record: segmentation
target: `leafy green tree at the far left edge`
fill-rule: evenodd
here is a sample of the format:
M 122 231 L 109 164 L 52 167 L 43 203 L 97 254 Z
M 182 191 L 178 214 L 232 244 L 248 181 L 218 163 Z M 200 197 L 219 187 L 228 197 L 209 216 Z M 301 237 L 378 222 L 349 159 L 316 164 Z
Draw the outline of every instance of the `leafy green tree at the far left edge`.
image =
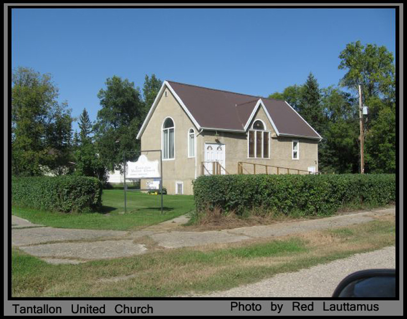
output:
M 50 74 L 26 67 L 12 71 L 12 174 L 41 175 L 44 166 L 57 169 L 69 162 L 72 117 Z

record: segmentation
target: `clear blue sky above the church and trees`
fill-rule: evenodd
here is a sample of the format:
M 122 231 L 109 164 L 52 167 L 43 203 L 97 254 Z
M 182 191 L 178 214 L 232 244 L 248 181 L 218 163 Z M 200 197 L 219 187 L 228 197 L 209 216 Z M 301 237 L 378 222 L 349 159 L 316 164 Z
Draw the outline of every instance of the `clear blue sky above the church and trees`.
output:
M 268 96 L 310 71 L 337 85 L 339 53 L 357 40 L 394 53 L 395 9 L 12 10 L 12 68 L 51 73 L 60 101 L 92 121 L 113 75 Z

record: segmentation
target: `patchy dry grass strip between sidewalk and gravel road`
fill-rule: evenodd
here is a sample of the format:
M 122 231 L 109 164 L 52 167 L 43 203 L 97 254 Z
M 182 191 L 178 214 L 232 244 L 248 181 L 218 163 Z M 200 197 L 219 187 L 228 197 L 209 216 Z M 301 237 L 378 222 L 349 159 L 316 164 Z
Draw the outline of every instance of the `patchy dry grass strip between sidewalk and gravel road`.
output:
M 256 282 L 395 244 L 394 217 L 335 230 L 82 264 L 48 264 L 13 248 L 13 297 L 165 297 Z

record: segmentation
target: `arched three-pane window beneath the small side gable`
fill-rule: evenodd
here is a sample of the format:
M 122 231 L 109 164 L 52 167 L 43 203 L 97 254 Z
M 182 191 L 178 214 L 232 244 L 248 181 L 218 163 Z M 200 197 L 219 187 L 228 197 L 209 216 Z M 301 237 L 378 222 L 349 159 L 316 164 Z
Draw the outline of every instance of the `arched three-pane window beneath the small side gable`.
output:
M 255 120 L 248 135 L 248 156 L 251 158 L 270 158 L 270 132 L 261 120 Z

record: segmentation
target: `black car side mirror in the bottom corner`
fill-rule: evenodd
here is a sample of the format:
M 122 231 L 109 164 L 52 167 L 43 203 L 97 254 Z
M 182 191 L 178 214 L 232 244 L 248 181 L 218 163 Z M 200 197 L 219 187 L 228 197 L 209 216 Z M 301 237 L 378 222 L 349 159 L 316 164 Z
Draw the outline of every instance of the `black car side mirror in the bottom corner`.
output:
M 372 269 L 353 273 L 339 283 L 332 297 L 394 298 L 396 297 L 396 271 Z

